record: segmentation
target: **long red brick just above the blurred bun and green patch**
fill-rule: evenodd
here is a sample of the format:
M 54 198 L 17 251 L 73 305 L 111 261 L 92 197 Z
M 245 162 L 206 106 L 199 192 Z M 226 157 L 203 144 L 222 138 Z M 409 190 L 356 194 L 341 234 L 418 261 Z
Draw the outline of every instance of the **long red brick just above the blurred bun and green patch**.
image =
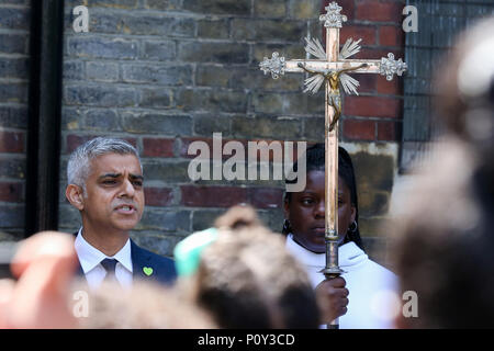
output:
M 235 186 L 180 186 L 182 204 L 192 207 L 231 207 L 247 203 L 247 189 Z

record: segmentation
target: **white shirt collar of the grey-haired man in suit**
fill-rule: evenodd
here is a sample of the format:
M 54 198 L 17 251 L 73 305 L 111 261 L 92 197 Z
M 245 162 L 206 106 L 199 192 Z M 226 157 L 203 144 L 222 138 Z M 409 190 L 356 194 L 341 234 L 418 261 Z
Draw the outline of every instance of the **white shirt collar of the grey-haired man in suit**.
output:
M 75 249 L 79 257 L 79 262 L 85 273 L 88 273 L 97 267 L 105 258 L 117 260 L 127 271 L 132 272 L 132 257 L 131 257 L 131 239 L 127 239 L 125 245 L 113 257 L 108 257 L 93 246 L 91 246 L 82 237 L 82 227 L 76 237 Z

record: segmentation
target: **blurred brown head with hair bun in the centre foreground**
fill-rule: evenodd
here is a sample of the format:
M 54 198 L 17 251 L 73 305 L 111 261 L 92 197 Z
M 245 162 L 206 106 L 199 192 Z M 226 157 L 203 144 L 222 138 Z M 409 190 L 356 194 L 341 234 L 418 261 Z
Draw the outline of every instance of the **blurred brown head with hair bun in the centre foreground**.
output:
M 317 328 L 308 278 L 281 235 L 263 227 L 250 207 L 232 208 L 216 228 L 188 280 L 193 302 L 222 328 Z

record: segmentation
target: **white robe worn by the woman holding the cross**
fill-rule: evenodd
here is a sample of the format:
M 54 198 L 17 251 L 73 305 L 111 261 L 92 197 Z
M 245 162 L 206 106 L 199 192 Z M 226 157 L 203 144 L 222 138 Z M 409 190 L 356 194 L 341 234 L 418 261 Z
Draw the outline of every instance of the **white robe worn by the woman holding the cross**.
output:
M 287 249 L 305 265 L 315 288 L 325 279 L 321 270 L 326 265 L 326 254 L 308 251 L 295 242 L 291 234 L 287 238 Z M 353 241 L 339 247 L 338 261 L 349 291 L 348 312 L 339 317 L 339 328 L 393 328 L 394 317 L 401 313 L 397 276 L 371 261 Z

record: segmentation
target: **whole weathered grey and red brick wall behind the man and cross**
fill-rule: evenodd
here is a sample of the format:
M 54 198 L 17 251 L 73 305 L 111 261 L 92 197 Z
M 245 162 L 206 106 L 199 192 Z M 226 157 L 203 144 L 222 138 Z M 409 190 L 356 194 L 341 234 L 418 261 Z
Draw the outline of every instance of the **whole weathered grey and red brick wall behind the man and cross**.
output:
M 341 42 L 362 37 L 362 58 L 403 57 L 403 1 L 340 0 L 349 22 Z M 29 1 L 0 5 L 0 230 L 23 227 Z M 59 227 L 79 214 L 65 200 L 67 158 L 100 135 L 130 140 L 142 154 L 146 211 L 133 237 L 171 256 L 175 244 L 236 203 L 250 203 L 272 229 L 282 223 L 279 181 L 197 181 L 187 173 L 194 140 L 323 141 L 324 95 L 303 94 L 303 75 L 273 80 L 258 64 L 277 50 L 304 58 L 303 38 L 321 37 L 321 0 L 67 0 Z M 89 33 L 75 33 L 76 5 L 89 9 Z M 348 97 L 341 141 L 355 158 L 361 230 L 371 257 L 385 257 L 379 219 L 396 172 L 402 82 L 359 75 Z M 15 211 L 12 211 L 15 210 Z M 20 211 L 18 211 L 20 210 Z

